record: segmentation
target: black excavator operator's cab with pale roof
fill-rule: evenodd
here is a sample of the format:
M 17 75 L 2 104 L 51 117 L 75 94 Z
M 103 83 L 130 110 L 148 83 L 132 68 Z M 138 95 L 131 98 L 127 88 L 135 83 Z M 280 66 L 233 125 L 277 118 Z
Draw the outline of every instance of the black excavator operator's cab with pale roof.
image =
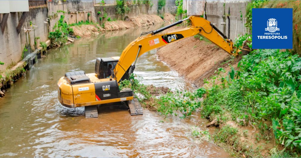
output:
M 113 70 L 115 69 L 118 60 L 119 56 L 109 58 L 97 58 L 95 63 L 95 74 L 97 74 L 98 79 L 110 78 L 111 75 L 114 75 Z

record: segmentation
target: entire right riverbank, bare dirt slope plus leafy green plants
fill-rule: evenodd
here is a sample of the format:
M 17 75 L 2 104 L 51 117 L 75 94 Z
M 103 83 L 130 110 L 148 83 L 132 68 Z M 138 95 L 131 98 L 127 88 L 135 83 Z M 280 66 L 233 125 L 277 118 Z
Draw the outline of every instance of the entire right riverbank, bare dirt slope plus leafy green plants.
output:
M 243 43 L 247 37 L 238 40 Z M 166 108 L 168 114 L 182 108 L 186 109 L 184 114 L 200 109 L 202 117 L 209 120 L 207 126 L 217 127 L 213 140 L 240 157 L 298 156 L 300 124 L 296 109 L 301 103 L 301 58 L 293 51 L 260 49 L 233 58 L 210 41 L 195 36 L 163 46 L 157 55 L 188 81 L 202 87 L 198 90 L 206 91 L 199 102 L 195 92 L 193 97 L 187 93 L 177 99 L 163 96 L 155 101 L 159 103 L 157 109 Z M 277 69 L 279 65 L 282 66 Z M 170 106 L 169 101 L 162 103 L 166 99 L 182 103 Z

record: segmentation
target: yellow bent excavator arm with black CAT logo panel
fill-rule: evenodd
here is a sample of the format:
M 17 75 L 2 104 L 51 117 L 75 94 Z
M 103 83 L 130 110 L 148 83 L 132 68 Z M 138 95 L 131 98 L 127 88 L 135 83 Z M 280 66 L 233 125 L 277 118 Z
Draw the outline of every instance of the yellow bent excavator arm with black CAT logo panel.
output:
M 180 24 L 186 20 L 190 20 L 192 25 L 183 29 L 160 33 L 163 30 Z M 119 82 L 125 74 L 131 74 L 135 69 L 137 58 L 145 52 L 161 46 L 165 46 L 177 40 L 182 40 L 186 37 L 194 36 L 198 33 L 225 50 L 230 55 L 237 56 L 237 53 L 233 52 L 234 48 L 232 40 L 228 39 L 227 36 L 225 36 L 220 30 L 218 30 L 206 19 L 202 17 L 190 16 L 166 27 L 151 31 L 144 36 L 139 36 L 136 40 L 131 42 L 126 47 L 126 49 L 123 50 L 118 64 L 114 69 L 115 80 Z

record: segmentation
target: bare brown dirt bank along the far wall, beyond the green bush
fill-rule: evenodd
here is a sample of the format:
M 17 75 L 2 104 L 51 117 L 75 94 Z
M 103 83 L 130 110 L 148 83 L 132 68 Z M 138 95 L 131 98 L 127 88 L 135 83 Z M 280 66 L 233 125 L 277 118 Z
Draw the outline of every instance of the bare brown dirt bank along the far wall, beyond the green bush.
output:
M 100 24 L 89 24 L 72 26 L 75 36 L 85 37 L 85 36 L 96 36 L 100 32 L 104 31 L 114 31 L 129 29 L 135 27 L 144 27 L 149 25 L 154 25 L 158 23 L 163 23 L 165 21 L 174 21 L 175 17 L 172 14 L 164 14 L 164 20 L 155 14 L 142 14 L 137 17 L 128 18 L 125 21 L 106 21 L 103 25 Z

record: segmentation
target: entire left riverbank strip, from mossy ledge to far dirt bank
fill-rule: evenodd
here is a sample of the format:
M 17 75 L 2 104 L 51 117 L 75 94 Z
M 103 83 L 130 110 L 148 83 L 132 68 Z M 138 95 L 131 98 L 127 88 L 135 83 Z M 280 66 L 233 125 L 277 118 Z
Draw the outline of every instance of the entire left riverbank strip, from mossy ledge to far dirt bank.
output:
M 64 17 L 62 19 L 64 19 Z M 65 34 L 64 36 L 60 35 L 61 37 L 57 38 L 56 35 L 60 33 L 51 32 L 52 34 L 51 33 L 50 34 L 54 37 L 51 39 L 53 41 L 50 42 L 48 40 L 46 41 L 45 44 L 47 49 L 51 49 L 53 47 L 60 47 L 61 45 L 70 44 L 80 37 L 97 36 L 99 33 L 105 31 L 115 31 L 115 30 L 130 29 L 135 27 L 145 27 L 145 26 L 159 24 L 163 22 L 172 23 L 173 21 L 175 21 L 174 19 L 175 17 L 172 14 L 166 13 L 164 15 L 164 20 L 160 16 L 155 14 L 142 14 L 137 17 L 129 18 L 126 21 L 120 21 L 120 20 L 106 21 L 102 26 L 97 23 L 93 23 L 93 24 L 83 23 L 83 24 L 75 24 L 75 25 L 73 24 L 74 26 L 67 26 L 62 23 L 60 25 L 60 28 L 58 28 L 58 30 L 61 30 L 63 35 L 64 33 L 68 33 L 68 34 L 70 33 L 70 35 L 68 36 L 67 34 Z M 67 30 L 67 32 L 64 32 L 64 30 Z M 43 52 L 42 49 L 43 48 L 40 47 L 32 51 L 30 57 L 34 57 L 33 59 L 28 60 L 28 58 L 25 58 L 18 63 L 12 64 L 7 68 L 7 70 L 0 73 L 1 74 L 0 97 L 5 96 L 5 90 L 3 90 L 4 88 L 8 88 L 11 85 L 13 85 L 14 81 L 17 81 L 20 77 L 23 76 L 23 74 L 25 74 L 27 70 L 30 69 L 30 66 L 36 62 L 37 58 L 41 58 L 43 56 L 43 54 L 41 55 L 41 53 Z M 28 51 L 29 50 L 26 49 L 25 53 Z

